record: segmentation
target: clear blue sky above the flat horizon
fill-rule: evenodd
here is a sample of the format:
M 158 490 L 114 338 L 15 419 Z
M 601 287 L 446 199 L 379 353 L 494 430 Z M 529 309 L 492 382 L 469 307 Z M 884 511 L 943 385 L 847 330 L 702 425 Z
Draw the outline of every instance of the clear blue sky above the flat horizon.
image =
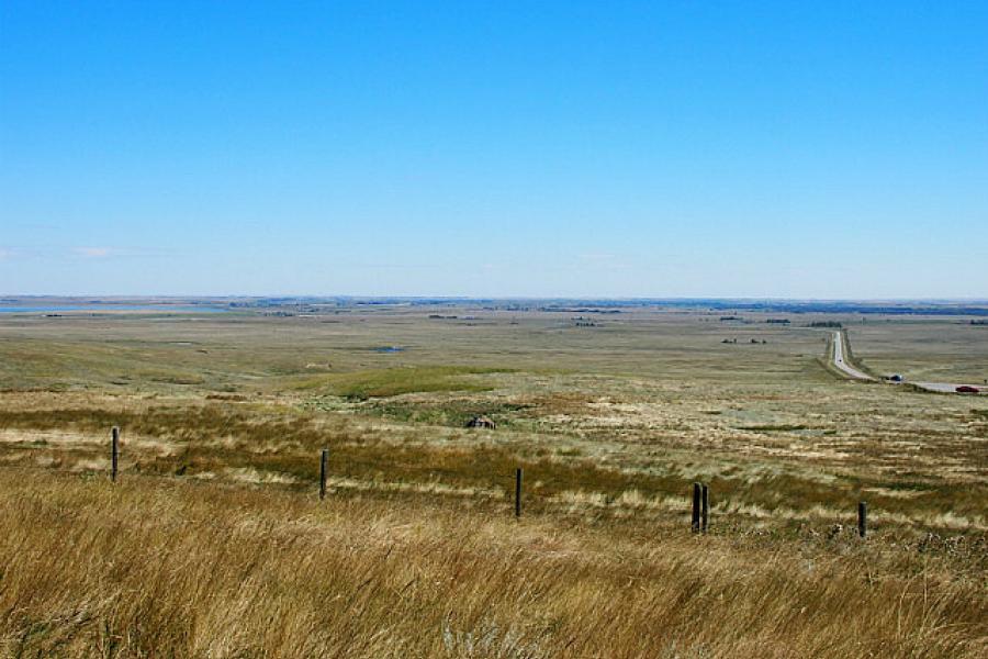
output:
M 988 298 L 988 2 L 2 0 L 0 293 Z

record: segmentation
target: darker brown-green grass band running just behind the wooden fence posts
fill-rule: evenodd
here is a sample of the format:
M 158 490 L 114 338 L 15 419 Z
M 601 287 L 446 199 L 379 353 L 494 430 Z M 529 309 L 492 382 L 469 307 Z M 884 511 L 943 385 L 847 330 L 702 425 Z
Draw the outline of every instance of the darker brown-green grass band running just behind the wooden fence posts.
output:
M 918 529 L 970 530 L 984 524 L 984 483 L 955 484 L 908 474 L 880 477 L 843 472 L 820 478 L 798 466 L 775 465 L 707 451 L 704 457 L 665 451 L 648 468 L 600 461 L 582 445 L 539 444 L 525 433 L 472 432 L 381 423 L 375 418 L 323 415 L 254 403 L 209 402 L 139 410 L 0 410 L 0 431 L 22 433 L 0 445 L 8 465 L 42 463 L 92 471 L 105 468 L 105 436 L 123 431 L 124 472 L 254 480 L 310 489 L 316 459 L 330 449 L 335 487 L 358 491 L 430 490 L 506 496 L 516 467 L 528 473 L 530 506 L 620 514 L 683 512 L 691 483 L 700 478 L 714 491 L 720 518 L 754 517 L 760 524 L 837 523 L 861 498 L 877 522 Z M 766 429 L 774 434 L 785 428 Z M 60 438 L 69 432 L 70 439 Z M 902 492 L 908 493 L 903 496 Z M 950 511 L 950 516 L 943 513 Z M 966 522 L 964 522 L 966 520 Z M 738 524 L 745 522 L 739 521 Z M 975 526 L 972 528 L 972 524 Z

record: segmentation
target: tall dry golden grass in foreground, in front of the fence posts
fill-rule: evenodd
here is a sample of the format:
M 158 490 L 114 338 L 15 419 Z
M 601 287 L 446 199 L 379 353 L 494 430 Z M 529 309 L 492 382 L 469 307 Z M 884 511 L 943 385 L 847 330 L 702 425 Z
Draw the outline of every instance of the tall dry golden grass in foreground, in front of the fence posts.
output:
M 2 652 L 984 657 L 984 574 L 424 500 L 0 471 Z

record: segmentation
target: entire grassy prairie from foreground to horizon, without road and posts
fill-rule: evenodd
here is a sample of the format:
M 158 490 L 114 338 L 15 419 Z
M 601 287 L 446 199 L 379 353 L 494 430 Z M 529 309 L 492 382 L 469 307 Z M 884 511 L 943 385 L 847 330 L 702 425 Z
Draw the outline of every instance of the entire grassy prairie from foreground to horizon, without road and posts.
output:
M 844 323 L 876 372 L 975 382 L 986 328 L 723 315 L 0 314 L 0 647 L 988 652 L 988 400 L 843 380 L 807 325 Z

